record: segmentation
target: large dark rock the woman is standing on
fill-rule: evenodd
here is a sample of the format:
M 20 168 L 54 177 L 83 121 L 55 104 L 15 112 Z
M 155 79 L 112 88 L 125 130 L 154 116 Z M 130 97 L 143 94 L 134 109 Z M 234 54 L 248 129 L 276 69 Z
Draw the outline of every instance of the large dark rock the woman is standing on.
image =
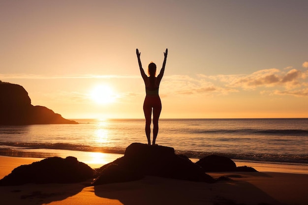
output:
M 111 167 L 111 164 L 116 164 L 118 166 L 117 169 L 134 173 L 139 177 L 146 175 L 209 183 L 215 182 L 215 179 L 205 174 L 200 166 L 187 158 L 176 155 L 174 148 L 167 146 L 148 146 L 146 144 L 133 143 L 126 148 L 123 157 L 97 169 L 96 176 L 104 178 L 104 172 L 114 169 L 114 167 Z M 117 180 L 117 182 L 119 181 Z M 102 183 L 95 180 L 93 184 L 98 185 Z

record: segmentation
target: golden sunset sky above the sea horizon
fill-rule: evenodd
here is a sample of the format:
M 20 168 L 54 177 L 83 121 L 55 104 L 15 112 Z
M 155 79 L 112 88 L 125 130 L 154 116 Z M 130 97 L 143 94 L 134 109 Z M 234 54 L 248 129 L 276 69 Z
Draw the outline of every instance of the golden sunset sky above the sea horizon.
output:
M 308 117 L 307 0 L 0 0 L 0 80 L 65 118 Z

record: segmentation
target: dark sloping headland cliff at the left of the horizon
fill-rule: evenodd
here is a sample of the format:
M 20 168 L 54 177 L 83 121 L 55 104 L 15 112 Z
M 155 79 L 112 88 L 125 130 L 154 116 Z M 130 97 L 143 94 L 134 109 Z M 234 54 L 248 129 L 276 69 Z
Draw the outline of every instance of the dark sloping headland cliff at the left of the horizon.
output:
M 28 92 L 20 85 L 0 81 L 0 124 L 77 124 L 43 106 L 31 105 Z

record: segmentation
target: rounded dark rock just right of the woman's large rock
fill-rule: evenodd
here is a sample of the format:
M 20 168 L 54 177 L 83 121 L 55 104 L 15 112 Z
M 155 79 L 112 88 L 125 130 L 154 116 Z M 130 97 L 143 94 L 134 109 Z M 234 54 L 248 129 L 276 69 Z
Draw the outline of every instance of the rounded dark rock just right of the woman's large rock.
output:
M 209 155 L 196 162 L 205 172 L 234 172 L 236 164 L 228 157 Z

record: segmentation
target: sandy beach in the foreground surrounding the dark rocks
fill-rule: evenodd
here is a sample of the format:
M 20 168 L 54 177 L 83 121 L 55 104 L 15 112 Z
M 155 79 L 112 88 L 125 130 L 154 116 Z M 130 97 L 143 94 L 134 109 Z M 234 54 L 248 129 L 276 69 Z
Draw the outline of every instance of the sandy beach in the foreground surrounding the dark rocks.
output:
M 40 158 L 0 156 L 0 178 Z M 89 164 L 97 167 L 97 164 Z M 308 175 L 279 172 L 208 173 L 231 180 L 214 184 L 147 176 L 87 186 L 25 184 L 0 187 L 2 205 L 308 205 Z

